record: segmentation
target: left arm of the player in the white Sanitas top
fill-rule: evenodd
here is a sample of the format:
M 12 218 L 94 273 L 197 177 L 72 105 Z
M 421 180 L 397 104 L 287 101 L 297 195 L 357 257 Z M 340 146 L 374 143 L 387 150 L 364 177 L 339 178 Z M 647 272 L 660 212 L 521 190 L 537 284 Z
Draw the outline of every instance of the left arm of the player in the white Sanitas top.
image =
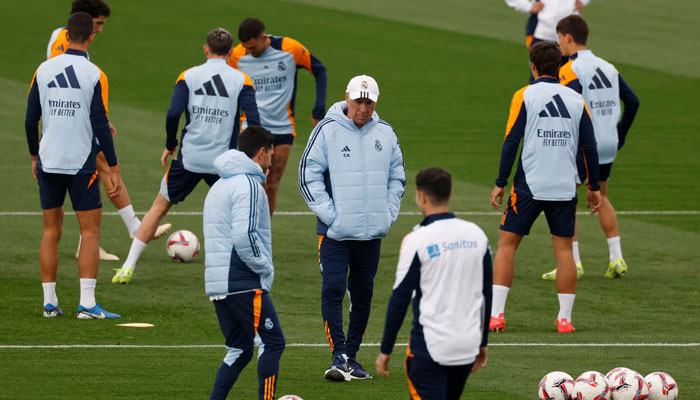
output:
M 404 238 L 404 245 L 399 255 L 396 281 L 386 310 L 380 353 L 375 362 L 377 372 L 384 377 L 389 377 L 389 360 L 396 343 L 396 335 L 406 317 L 413 292 L 420 285 L 420 258 L 413 246 L 405 245 L 406 240 L 407 238 Z

